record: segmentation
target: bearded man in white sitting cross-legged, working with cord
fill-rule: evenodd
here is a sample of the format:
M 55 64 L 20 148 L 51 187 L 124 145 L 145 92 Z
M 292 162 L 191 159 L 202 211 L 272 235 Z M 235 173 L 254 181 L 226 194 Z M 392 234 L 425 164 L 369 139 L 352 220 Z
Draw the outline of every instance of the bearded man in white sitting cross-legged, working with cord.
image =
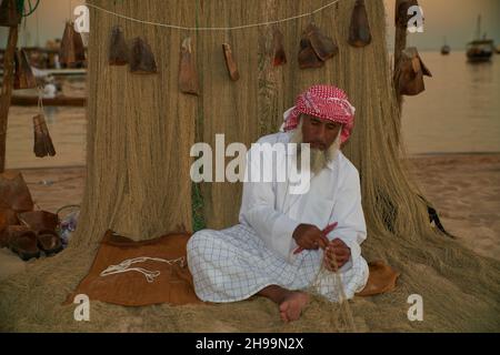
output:
M 234 302 L 257 294 L 276 302 L 281 318 L 290 322 L 309 302 L 308 287 L 333 302 L 364 287 L 368 265 L 360 244 L 367 231 L 360 181 L 340 152 L 353 119 L 354 108 L 343 91 L 314 85 L 284 113 L 284 132 L 258 141 L 309 143 L 309 190 L 291 194 L 287 182 L 243 183 L 240 223 L 199 231 L 188 243 L 188 265 L 201 300 Z M 300 154 L 298 150 L 297 158 Z M 330 271 L 338 267 L 341 285 L 320 273 L 322 263 Z

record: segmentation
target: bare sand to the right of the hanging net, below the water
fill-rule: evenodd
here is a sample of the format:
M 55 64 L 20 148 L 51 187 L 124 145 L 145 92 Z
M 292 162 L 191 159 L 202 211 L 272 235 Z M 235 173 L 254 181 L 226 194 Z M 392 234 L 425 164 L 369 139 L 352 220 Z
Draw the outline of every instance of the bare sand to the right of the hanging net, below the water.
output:
M 423 155 L 411 162 L 447 231 L 479 255 L 500 260 L 500 154 Z

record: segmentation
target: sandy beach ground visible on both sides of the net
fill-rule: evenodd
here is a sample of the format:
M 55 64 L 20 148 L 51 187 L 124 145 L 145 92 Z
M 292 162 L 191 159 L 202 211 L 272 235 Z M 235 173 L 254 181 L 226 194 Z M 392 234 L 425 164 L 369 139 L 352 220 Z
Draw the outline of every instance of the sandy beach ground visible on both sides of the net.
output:
M 476 253 L 500 260 L 500 154 L 420 155 L 410 165 L 448 232 Z M 84 166 L 21 172 L 39 209 L 81 203 Z M 0 250 L 0 280 L 24 267 L 16 254 Z

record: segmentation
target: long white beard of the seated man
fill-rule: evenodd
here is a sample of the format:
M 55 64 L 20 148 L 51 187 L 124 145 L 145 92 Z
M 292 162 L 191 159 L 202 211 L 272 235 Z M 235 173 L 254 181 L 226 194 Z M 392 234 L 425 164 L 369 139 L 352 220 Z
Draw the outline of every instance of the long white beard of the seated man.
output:
M 334 142 L 326 150 L 321 151 L 319 149 L 310 149 L 311 152 L 311 159 L 310 159 L 310 170 L 314 173 L 314 175 L 318 175 L 327 165 L 333 161 L 337 158 L 337 154 L 340 150 L 340 132 L 342 129 L 339 130 L 339 134 L 337 135 Z M 297 143 L 297 168 L 300 171 L 300 162 L 301 162 L 301 146 L 300 143 L 303 143 L 302 138 L 302 120 L 299 122 L 299 125 L 297 129 L 293 130 L 293 134 L 291 138 L 291 143 Z

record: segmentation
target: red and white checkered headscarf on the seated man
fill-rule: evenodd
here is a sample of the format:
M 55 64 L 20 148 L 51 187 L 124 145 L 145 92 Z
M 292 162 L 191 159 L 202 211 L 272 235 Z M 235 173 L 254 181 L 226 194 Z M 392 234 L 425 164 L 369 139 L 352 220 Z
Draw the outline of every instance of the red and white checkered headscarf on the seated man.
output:
M 348 101 L 347 94 L 332 85 L 313 85 L 297 97 L 296 105 L 284 112 L 284 131 L 290 131 L 299 124 L 300 114 L 311 114 L 320 119 L 342 124 L 341 143 L 351 134 L 354 125 L 356 109 Z

